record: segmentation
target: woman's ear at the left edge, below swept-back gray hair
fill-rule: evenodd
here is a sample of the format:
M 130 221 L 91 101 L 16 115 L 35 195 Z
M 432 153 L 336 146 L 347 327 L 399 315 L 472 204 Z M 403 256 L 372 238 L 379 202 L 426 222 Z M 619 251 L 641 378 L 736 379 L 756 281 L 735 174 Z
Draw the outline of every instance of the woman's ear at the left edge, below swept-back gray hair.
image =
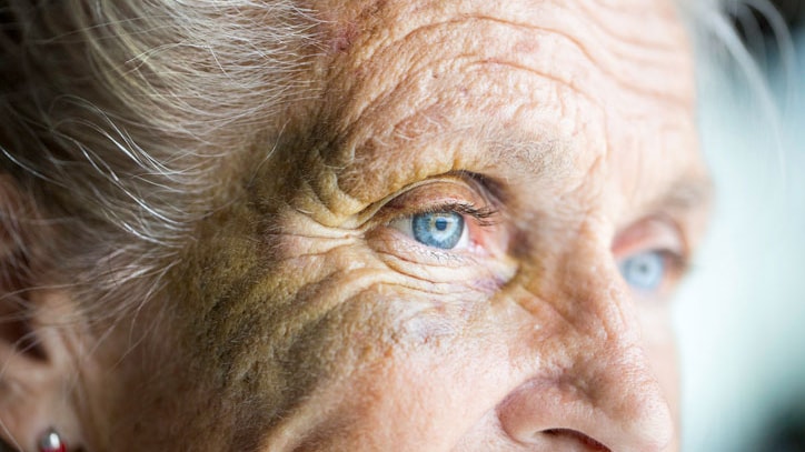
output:
M 37 451 L 48 429 L 76 434 L 71 384 L 77 374 L 63 292 L 38 281 L 33 250 L 42 240 L 32 203 L 0 174 L 0 450 Z M 74 319 L 74 317 L 73 317 Z

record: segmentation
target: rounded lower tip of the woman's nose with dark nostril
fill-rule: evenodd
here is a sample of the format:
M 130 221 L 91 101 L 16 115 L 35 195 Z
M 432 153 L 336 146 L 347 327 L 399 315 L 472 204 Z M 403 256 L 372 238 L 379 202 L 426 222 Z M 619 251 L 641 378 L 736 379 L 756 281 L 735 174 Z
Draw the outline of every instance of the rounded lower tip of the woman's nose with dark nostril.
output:
M 518 386 L 498 406 L 519 443 L 558 451 L 655 452 L 670 448 L 674 423 L 659 384 L 639 358 L 596 356 L 560 375 Z M 587 369 L 585 369 L 587 368 Z

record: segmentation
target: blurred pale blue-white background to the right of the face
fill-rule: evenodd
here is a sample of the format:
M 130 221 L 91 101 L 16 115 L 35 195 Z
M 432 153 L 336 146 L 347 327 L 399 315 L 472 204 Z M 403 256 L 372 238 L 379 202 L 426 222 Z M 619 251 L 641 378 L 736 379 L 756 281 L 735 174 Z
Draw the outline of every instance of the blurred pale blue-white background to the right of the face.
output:
M 767 89 L 735 59 L 702 81 L 718 198 L 675 307 L 686 452 L 805 451 L 805 0 L 772 3 L 791 40 L 768 3 L 729 11 Z

